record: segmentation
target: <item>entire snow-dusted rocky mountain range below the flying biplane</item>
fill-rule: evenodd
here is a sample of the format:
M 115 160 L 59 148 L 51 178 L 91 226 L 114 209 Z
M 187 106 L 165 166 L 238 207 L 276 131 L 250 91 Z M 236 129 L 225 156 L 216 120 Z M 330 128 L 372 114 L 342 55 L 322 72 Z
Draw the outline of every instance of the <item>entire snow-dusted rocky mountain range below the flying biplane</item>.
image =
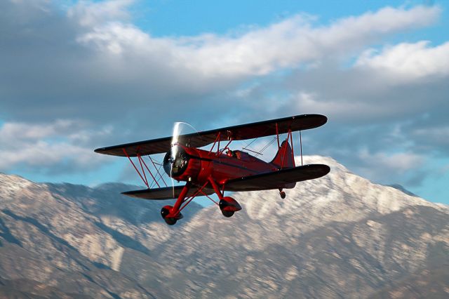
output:
M 161 201 L 119 194 L 133 187 L 0 175 L 0 297 L 448 297 L 448 206 L 304 162 L 331 172 L 286 199 L 235 193 L 232 218 L 191 205 L 174 227 Z

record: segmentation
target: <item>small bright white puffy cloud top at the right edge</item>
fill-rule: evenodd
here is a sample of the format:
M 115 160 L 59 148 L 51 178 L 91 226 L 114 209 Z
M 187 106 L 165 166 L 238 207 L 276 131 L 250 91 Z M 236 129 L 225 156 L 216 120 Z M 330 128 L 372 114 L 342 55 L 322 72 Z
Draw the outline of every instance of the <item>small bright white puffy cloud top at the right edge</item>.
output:
M 358 58 L 356 66 L 373 69 L 389 81 L 401 83 L 448 76 L 449 42 L 435 47 L 429 44 L 429 41 L 418 41 L 387 46 L 380 52 L 370 49 Z

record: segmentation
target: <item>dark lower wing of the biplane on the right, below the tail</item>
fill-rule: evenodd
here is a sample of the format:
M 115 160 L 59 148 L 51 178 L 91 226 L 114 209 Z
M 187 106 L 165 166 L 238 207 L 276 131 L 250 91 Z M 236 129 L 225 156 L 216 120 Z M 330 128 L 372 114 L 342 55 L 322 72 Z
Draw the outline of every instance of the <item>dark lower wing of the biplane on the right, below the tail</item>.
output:
M 328 174 L 329 166 L 323 164 L 309 164 L 294 168 L 281 169 L 269 173 L 250 175 L 243 178 L 228 180 L 225 184 L 226 191 L 256 191 L 270 190 L 286 187 L 294 182 L 321 178 Z

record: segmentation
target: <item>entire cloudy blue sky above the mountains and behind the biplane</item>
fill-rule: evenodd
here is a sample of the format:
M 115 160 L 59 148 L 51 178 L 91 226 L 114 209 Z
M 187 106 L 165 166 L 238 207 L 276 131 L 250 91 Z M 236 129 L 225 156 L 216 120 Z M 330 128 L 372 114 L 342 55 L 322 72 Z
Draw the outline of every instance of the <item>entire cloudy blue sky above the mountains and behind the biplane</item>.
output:
M 449 1 L 0 1 L 0 171 L 139 183 L 126 159 L 93 149 L 170 135 L 175 121 L 204 131 L 316 113 L 328 124 L 304 132 L 304 154 L 449 204 L 448 10 Z

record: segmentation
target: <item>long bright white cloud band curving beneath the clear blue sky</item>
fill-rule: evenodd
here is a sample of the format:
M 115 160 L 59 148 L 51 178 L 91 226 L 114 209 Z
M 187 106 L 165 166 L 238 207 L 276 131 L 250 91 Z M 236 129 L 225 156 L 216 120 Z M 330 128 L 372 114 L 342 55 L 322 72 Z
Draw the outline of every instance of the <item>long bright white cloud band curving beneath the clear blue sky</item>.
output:
M 314 27 L 308 16 L 296 15 L 238 36 L 180 38 L 155 38 L 122 22 L 93 22 L 91 30 L 81 34 L 78 41 L 94 45 L 102 53 L 138 55 L 144 63 L 159 57 L 166 67 L 183 69 L 202 79 L 239 78 L 297 67 L 328 55 L 347 55 L 380 36 L 429 25 L 439 13 L 436 6 L 383 8 L 323 27 Z

